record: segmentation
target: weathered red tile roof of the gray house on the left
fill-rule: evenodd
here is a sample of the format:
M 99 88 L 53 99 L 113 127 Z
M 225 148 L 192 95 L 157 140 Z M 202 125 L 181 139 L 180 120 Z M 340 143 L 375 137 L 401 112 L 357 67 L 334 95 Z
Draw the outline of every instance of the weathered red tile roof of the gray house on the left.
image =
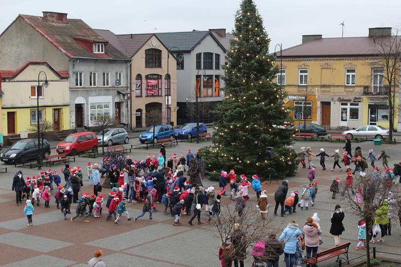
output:
M 70 58 L 128 59 L 123 52 L 116 49 L 111 44 L 106 44 L 104 54 L 93 53 L 93 50 L 88 49 L 90 46 L 84 46 L 82 42 L 87 42 L 87 44 L 93 42 L 107 43 L 107 40 L 96 33 L 81 19 L 68 18 L 66 22 L 58 23 L 45 20 L 43 17 L 39 16 L 19 15 L 18 17 L 21 17 L 26 23 L 32 26 L 38 33 Z

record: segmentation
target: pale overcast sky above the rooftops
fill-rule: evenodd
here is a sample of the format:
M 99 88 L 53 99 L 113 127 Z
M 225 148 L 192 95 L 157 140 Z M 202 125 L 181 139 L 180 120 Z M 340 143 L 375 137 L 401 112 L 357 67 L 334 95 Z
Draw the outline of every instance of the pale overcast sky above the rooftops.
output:
M 255 0 L 272 42 L 300 44 L 302 34 L 366 36 L 369 27 L 397 27 L 400 0 Z M 226 28 L 231 32 L 240 0 L 14 0 L 1 1 L 0 32 L 18 14 L 68 13 L 95 29 L 114 33 L 157 33 Z

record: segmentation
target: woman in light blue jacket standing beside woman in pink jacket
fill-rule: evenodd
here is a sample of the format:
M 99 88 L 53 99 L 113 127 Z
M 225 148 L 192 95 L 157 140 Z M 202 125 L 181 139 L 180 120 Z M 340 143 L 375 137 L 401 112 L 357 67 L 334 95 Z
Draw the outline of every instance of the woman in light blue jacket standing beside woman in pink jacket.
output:
M 284 242 L 284 261 L 286 267 L 292 267 L 295 264 L 296 238 L 301 234 L 302 232 L 299 230 L 295 220 L 290 220 L 290 223 L 281 233 L 279 239 L 277 239 Z

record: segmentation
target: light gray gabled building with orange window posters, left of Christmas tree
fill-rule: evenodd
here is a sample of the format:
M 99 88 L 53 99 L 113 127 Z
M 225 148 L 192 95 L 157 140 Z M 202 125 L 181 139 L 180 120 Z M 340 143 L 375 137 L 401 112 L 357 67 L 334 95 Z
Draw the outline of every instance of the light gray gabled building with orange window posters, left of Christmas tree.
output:
M 177 59 L 177 123 L 195 121 L 196 94 L 199 119 L 212 122 L 210 111 L 224 99 L 226 48 L 211 31 L 156 33 Z

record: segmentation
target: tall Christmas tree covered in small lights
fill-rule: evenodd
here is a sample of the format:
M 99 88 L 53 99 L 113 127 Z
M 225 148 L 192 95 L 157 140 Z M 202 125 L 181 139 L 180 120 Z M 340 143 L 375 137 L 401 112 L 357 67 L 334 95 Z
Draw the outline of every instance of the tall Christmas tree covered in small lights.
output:
M 285 92 L 276 84 L 276 59 L 269 54 L 270 39 L 253 0 L 243 0 L 235 16 L 228 65 L 225 66 L 225 100 L 215 112 L 214 145 L 203 150 L 208 174 L 235 168 L 265 179 L 293 175 L 296 154 L 289 146 L 294 132 L 285 107 Z M 266 148 L 274 148 L 273 159 Z

